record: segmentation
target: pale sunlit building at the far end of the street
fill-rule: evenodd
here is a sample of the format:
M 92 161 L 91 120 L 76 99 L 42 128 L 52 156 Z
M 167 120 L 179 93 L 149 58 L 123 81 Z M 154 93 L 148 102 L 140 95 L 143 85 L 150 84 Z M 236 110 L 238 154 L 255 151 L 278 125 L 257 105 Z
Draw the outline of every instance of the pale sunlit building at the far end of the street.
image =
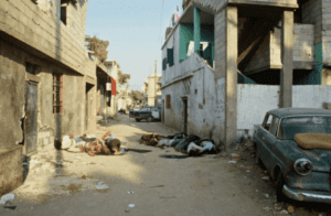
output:
M 161 74 L 151 74 L 148 76 L 147 80 L 143 83 L 143 105 L 145 106 L 161 106 L 162 97 L 162 76 Z

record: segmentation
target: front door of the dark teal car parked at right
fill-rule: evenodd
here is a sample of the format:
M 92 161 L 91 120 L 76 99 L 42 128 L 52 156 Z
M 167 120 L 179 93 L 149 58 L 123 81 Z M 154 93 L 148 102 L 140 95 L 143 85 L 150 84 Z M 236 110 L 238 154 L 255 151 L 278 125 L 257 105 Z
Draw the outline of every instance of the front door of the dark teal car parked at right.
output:
M 265 165 L 268 171 L 270 171 L 270 168 L 273 166 L 273 161 L 275 161 L 275 144 L 277 142 L 277 131 L 279 126 L 279 118 L 276 116 L 273 116 L 271 125 L 269 128 L 269 131 L 265 133 L 265 143 L 266 143 L 266 161 Z

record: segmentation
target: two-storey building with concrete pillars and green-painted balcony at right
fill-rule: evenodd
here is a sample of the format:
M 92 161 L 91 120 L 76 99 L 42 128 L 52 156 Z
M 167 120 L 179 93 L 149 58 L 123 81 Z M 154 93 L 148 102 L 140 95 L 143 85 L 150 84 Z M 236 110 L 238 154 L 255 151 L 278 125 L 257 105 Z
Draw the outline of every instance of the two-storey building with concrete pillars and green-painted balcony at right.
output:
M 185 1 L 162 46 L 164 122 L 232 149 L 268 109 L 321 108 L 331 94 L 322 86 L 331 84 L 329 8 L 327 0 Z

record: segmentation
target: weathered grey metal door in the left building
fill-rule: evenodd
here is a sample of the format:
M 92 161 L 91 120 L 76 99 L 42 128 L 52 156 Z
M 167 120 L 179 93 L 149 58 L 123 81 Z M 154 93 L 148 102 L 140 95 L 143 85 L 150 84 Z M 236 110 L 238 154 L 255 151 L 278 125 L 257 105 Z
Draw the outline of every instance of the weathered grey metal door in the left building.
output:
M 38 84 L 28 83 L 26 86 L 26 120 L 25 120 L 25 153 L 36 151 L 36 121 L 38 121 Z

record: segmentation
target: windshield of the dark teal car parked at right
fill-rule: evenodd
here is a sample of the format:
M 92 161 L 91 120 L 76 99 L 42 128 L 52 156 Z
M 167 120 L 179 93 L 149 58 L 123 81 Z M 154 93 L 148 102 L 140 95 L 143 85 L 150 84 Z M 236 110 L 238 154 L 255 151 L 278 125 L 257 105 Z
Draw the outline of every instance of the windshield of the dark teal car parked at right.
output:
M 280 122 L 279 137 L 292 140 L 297 133 L 331 133 L 330 116 L 309 116 L 284 118 Z

